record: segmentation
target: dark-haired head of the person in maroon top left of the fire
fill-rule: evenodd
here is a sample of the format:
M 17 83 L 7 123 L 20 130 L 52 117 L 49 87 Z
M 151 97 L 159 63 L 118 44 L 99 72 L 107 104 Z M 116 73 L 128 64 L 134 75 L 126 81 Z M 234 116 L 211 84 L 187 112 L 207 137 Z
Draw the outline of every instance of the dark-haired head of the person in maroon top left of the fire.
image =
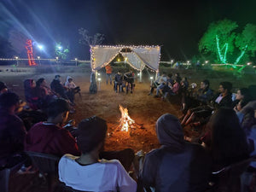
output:
M 48 118 L 55 118 L 60 113 L 65 113 L 70 110 L 69 104 L 66 100 L 58 98 L 49 102 L 49 105 L 46 109 L 47 117 Z

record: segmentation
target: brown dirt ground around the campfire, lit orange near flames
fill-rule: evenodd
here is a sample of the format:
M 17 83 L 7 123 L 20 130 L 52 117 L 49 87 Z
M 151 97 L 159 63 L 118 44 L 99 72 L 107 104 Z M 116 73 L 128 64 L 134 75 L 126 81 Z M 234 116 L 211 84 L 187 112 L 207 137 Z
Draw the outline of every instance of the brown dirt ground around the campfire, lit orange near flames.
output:
M 61 81 L 66 81 L 67 75 L 73 77 L 75 84 L 81 88 L 81 97 L 75 96 L 76 113 L 70 114 L 69 119 L 74 119 L 76 125 L 80 120 L 88 118 L 92 115 L 97 115 L 106 119 L 108 123 L 108 137 L 106 139 L 106 150 L 119 150 L 123 148 L 132 148 L 135 152 L 140 149 L 148 152 L 153 148 L 158 148 L 159 143 L 154 131 L 156 120 L 164 113 L 172 113 L 177 117 L 181 117 L 180 105 L 177 100 L 163 102 L 154 96 L 148 96 L 150 79 L 149 76 L 154 76 L 153 72 L 143 73 L 143 83 L 139 83 L 136 79 L 136 87 L 133 94 L 115 93 L 113 85 L 106 84 L 105 73 L 100 71 L 102 82 L 100 90 L 96 94 L 89 93 L 90 87 L 90 67 L 18 67 L 18 72 L 6 70 L 8 67 L 2 67 L 0 73 L 0 81 L 5 82 L 10 90 L 15 91 L 21 99 L 24 100 L 23 81 L 25 79 L 45 78 L 49 85 L 55 74 L 61 75 Z M 114 68 L 117 71 L 118 68 Z M 121 68 L 121 71 L 128 69 Z M 256 82 L 255 75 L 238 78 L 230 73 L 220 73 L 206 70 L 175 70 L 167 67 L 160 68 L 160 73 L 180 73 L 181 77 L 187 77 L 189 84 L 195 82 L 200 84 L 202 79 L 209 79 L 213 90 L 218 90 L 220 81 L 229 80 L 233 83 L 234 90 L 236 88 L 247 86 Z M 137 74 L 136 74 L 137 75 Z M 98 84 L 99 89 L 99 84 Z M 119 129 L 119 119 L 121 113 L 119 105 L 128 109 L 131 119 L 143 128 L 132 129 L 125 132 Z M 189 128 L 184 128 L 184 132 L 189 137 L 197 137 L 198 131 L 191 131 Z

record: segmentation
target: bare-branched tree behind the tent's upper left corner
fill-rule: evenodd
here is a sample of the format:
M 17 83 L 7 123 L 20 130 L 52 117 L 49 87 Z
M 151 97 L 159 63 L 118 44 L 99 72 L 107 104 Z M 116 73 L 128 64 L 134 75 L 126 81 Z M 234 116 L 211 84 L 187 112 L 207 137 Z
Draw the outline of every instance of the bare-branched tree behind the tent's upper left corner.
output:
M 82 35 L 82 38 L 79 39 L 79 44 L 86 45 L 96 45 L 102 44 L 102 41 L 105 39 L 104 35 L 101 33 L 96 33 L 93 37 L 89 35 L 89 32 L 84 28 L 79 28 L 79 34 Z

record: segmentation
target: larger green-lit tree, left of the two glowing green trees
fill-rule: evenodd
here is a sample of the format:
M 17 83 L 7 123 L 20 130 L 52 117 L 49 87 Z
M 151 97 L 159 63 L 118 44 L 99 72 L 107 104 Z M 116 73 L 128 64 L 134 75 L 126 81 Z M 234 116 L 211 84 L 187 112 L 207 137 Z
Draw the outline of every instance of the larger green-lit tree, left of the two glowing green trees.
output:
M 203 53 L 215 53 L 217 61 L 227 63 L 227 54 L 234 51 L 234 30 L 237 24 L 231 20 L 213 22 L 199 42 L 199 50 Z

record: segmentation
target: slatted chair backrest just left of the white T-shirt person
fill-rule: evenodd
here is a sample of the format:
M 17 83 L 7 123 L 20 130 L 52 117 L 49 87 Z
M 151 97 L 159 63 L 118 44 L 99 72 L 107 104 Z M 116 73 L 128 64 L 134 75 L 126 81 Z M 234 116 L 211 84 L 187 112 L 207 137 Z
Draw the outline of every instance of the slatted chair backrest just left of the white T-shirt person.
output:
M 32 164 L 36 166 L 39 172 L 42 173 L 57 173 L 58 163 L 61 159 L 53 154 L 43 154 L 38 152 L 26 151 L 26 154 L 31 158 Z

